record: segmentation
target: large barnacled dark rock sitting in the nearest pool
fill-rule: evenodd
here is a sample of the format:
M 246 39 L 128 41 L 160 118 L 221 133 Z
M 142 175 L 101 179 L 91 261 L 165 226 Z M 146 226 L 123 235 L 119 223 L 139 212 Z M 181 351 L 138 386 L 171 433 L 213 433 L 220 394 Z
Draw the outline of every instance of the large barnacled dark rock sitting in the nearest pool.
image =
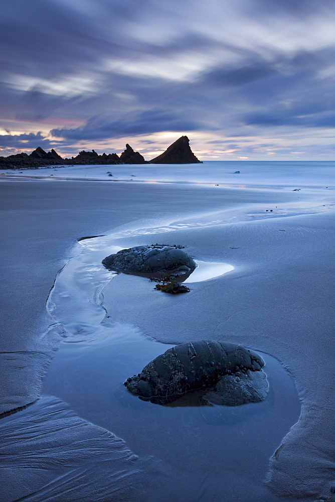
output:
M 268 384 L 263 366 L 263 359 L 242 345 L 201 340 L 166 350 L 124 385 L 140 399 L 156 404 L 202 390 L 202 404 L 239 406 L 265 399 Z

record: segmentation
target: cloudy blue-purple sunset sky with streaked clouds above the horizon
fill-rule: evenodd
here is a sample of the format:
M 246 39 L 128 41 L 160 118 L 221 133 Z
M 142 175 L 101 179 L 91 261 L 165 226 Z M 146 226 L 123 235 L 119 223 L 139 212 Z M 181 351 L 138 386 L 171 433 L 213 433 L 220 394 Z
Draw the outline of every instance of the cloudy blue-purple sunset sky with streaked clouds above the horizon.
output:
M 11 0 L 0 155 L 334 160 L 334 0 Z

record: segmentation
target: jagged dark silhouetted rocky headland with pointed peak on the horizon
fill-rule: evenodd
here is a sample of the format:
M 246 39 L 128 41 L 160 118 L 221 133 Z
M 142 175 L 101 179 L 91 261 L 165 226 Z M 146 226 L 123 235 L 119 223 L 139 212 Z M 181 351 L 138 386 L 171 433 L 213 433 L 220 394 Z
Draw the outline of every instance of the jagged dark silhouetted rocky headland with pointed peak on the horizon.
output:
M 20 153 L 8 157 L 0 157 L 0 169 L 38 169 L 48 166 L 80 166 L 80 165 L 114 165 L 114 164 L 194 164 L 200 163 L 190 148 L 190 140 L 187 136 L 182 136 L 175 143 L 170 145 L 164 153 L 150 161 L 135 152 L 128 143 L 126 149 L 120 157 L 115 154 L 99 155 L 92 150 L 86 152 L 82 150 L 76 157 L 62 158 L 54 149 L 46 152 L 38 147 L 30 155 Z

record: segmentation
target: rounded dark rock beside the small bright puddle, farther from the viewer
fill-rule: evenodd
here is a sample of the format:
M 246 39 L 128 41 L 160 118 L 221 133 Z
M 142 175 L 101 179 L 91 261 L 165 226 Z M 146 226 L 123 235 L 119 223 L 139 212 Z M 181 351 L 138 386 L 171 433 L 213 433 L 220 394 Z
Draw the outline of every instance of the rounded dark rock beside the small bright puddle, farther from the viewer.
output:
M 194 270 L 197 264 L 181 247 L 164 244 L 130 247 L 107 256 L 102 263 L 118 272 L 155 274 L 158 278 L 182 275 Z

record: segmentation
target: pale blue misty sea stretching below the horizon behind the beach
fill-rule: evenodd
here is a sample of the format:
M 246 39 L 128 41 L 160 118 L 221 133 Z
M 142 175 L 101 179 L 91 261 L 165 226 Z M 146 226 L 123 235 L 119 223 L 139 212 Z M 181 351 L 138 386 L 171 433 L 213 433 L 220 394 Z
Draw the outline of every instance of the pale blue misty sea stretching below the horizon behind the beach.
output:
M 240 171 L 239 174 L 235 174 Z M 112 176 L 108 176 L 111 172 Z M 309 187 L 330 190 L 335 186 L 335 161 L 205 161 L 203 164 L 142 164 L 57 166 L 55 168 L 0 171 L 25 178 L 96 179 L 151 183 L 210 183 L 287 189 Z M 327 187 L 327 188 L 326 188 Z

